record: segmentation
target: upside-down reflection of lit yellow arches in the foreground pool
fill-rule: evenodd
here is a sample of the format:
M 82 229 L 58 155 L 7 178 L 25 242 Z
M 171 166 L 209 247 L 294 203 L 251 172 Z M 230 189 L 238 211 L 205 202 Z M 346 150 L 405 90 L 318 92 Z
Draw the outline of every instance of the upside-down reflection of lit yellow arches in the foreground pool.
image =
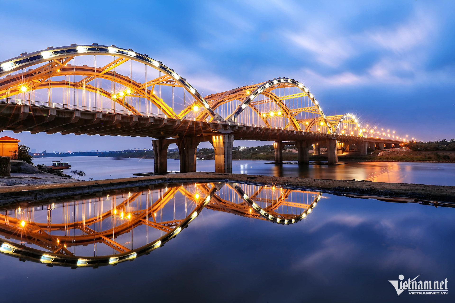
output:
M 0 252 L 47 266 L 116 265 L 175 238 L 202 209 L 294 224 L 319 192 L 238 183 L 161 184 L 0 209 Z

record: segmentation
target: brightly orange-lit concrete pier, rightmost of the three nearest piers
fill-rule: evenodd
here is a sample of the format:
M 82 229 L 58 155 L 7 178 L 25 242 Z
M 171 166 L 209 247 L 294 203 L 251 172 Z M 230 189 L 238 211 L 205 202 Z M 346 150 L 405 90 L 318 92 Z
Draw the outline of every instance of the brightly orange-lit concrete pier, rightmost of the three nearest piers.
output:
M 212 136 L 212 145 L 215 151 L 215 173 L 232 173 L 233 144 L 233 134 Z

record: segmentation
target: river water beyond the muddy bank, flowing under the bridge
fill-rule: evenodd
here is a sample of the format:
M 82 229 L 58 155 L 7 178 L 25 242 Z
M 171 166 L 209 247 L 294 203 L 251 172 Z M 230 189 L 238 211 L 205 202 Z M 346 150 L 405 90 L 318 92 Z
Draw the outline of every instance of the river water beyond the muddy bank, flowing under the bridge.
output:
M 71 169 L 82 170 L 86 178 L 113 179 L 132 177 L 133 173 L 154 171 L 152 159 L 125 159 L 86 156 L 65 157 Z M 35 158 L 35 164 L 50 165 L 54 158 Z M 234 174 L 260 174 L 268 176 L 304 177 L 314 179 L 371 180 L 377 182 L 397 182 L 415 184 L 455 185 L 455 163 L 419 162 L 348 162 L 340 165 L 266 164 L 270 161 L 233 161 Z M 167 170 L 179 170 L 180 162 L 167 159 Z M 215 171 L 215 160 L 197 161 L 197 171 Z

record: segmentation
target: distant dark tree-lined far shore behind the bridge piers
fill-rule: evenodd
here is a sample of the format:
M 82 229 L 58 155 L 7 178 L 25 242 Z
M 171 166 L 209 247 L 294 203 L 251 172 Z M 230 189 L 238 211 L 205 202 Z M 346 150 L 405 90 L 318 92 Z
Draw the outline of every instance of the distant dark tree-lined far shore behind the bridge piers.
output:
M 327 149 L 321 147 L 320 155 L 313 155 L 310 149 L 310 161 L 327 160 Z M 31 153 L 30 153 L 31 154 Z M 297 161 L 297 149 L 294 145 L 286 145 L 283 148 L 283 161 Z M 214 159 L 215 154 L 212 148 L 198 149 L 198 158 Z M 39 157 L 68 157 L 68 156 L 99 156 L 112 158 L 136 158 L 153 159 L 152 149 L 136 149 L 121 151 L 103 152 L 72 152 L 72 153 L 34 153 L 35 158 Z M 167 159 L 179 159 L 178 149 L 168 149 Z M 273 145 L 262 145 L 257 147 L 234 147 L 233 160 L 274 160 Z M 400 162 L 455 162 L 455 139 L 435 142 L 410 143 L 404 149 L 377 149 L 369 151 L 367 155 L 360 155 L 358 149 L 343 151 L 338 155 L 338 160 L 343 161 L 400 161 Z

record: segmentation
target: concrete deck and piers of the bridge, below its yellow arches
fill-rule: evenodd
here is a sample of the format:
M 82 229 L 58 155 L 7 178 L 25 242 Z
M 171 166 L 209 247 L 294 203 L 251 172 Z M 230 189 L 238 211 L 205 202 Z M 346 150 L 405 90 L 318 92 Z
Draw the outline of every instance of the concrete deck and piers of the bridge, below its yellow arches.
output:
M 345 134 L 304 132 L 258 125 L 238 124 L 227 121 L 194 121 L 170 119 L 161 115 L 132 115 L 93 112 L 71 108 L 52 108 L 34 105 L 0 104 L 0 130 L 15 133 L 30 131 L 32 134 L 88 134 L 111 136 L 140 136 L 157 139 L 153 142 L 155 172 L 166 173 L 166 154 L 169 144 L 177 144 L 180 152 L 180 171 L 196 171 L 196 148 L 208 141 L 215 151 L 215 171 L 232 172 L 233 140 L 275 141 L 275 163 L 282 163 L 282 149 L 294 144 L 298 149 L 298 163 L 308 164 L 308 150 L 313 146 L 319 154 L 321 146 L 328 149 L 328 162 L 337 163 L 343 144 L 357 145 L 361 154 L 370 149 L 391 148 L 403 143 L 395 140 L 373 139 Z M 172 138 L 172 139 L 166 139 Z

